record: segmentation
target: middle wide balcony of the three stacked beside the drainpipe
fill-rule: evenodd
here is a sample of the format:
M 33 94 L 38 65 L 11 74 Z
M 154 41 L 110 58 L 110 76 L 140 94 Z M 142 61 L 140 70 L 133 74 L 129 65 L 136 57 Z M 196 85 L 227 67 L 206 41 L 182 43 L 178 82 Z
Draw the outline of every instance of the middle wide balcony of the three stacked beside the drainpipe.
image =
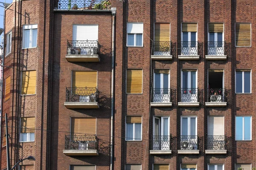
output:
M 66 88 L 66 108 L 99 108 L 97 88 Z

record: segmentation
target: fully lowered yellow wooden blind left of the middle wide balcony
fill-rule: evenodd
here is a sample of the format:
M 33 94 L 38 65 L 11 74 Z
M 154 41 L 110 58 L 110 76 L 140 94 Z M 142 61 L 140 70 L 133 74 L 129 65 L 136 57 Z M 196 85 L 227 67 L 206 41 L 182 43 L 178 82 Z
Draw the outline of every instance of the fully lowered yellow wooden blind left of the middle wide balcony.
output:
M 36 71 L 22 71 L 21 95 L 35 94 Z

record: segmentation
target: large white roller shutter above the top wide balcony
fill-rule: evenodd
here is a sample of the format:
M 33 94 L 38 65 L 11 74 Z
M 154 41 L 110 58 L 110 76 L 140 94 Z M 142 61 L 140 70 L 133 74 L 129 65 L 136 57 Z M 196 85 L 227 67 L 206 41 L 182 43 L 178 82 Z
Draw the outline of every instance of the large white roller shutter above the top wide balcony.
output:
M 98 40 L 98 25 L 73 25 L 73 40 Z

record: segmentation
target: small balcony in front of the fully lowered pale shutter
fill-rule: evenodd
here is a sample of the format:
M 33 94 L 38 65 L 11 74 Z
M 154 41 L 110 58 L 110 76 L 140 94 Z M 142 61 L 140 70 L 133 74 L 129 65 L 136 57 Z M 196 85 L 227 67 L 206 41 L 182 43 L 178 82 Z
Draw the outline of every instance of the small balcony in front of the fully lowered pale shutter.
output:
M 207 136 L 206 154 L 226 154 L 226 136 Z

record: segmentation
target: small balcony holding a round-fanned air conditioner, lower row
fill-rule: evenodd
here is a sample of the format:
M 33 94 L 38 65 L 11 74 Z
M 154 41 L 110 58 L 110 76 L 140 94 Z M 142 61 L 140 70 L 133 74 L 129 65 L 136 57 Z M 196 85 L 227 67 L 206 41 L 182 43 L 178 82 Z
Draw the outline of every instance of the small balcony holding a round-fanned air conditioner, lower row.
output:
M 178 154 L 199 154 L 198 136 L 180 136 Z

